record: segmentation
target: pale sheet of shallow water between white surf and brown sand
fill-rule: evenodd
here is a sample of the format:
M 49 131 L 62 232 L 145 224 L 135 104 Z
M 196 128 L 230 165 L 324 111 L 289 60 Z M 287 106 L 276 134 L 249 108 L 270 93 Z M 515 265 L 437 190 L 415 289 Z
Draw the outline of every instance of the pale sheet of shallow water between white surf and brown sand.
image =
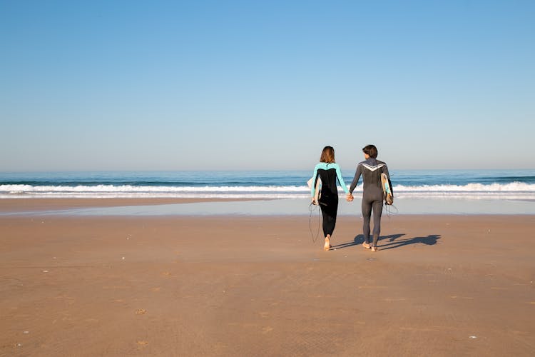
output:
M 359 215 L 359 198 L 348 203 L 342 197 L 338 214 Z M 312 211 L 312 212 L 311 212 Z M 284 198 L 267 201 L 215 201 L 150 206 L 71 208 L 39 212 L 7 212 L 0 216 L 276 216 L 319 214 L 309 199 Z M 535 201 L 474 198 L 397 198 L 384 206 L 385 214 L 535 214 Z

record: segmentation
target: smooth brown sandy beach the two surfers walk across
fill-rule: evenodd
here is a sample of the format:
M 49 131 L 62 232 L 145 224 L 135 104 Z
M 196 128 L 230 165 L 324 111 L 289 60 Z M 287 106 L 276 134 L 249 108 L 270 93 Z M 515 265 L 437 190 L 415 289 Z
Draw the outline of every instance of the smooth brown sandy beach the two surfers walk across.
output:
M 535 216 L 384 217 L 375 253 L 361 229 L 325 252 L 308 216 L 1 216 L 0 355 L 535 354 Z

